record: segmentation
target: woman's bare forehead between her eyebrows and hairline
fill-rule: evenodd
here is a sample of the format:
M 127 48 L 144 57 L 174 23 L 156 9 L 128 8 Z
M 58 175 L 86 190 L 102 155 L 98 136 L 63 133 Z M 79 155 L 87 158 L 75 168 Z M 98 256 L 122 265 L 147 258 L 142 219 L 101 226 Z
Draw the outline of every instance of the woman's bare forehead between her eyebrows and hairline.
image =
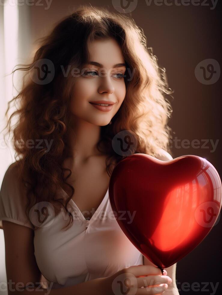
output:
M 89 44 L 90 60 L 112 67 L 124 63 L 122 49 L 115 39 L 95 40 Z

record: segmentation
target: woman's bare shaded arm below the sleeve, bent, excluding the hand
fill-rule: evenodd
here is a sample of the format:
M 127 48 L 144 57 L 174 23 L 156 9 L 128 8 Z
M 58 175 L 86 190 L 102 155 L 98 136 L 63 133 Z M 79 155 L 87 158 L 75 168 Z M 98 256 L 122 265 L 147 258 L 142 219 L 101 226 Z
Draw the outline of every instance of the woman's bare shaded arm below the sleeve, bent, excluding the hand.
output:
M 52 284 L 43 288 L 41 272 L 34 255 L 34 231 L 10 221 L 2 221 L 5 237 L 5 264 L 8 295 L 103 295 L 104 278 L 97 278 L 70 287 L 51 289 Z M 26 288 L 28 287 L 28 289 Z M 6 286 L 4 287 L 6 289 Z M 20 291 L 19 291 L 20 290 Z

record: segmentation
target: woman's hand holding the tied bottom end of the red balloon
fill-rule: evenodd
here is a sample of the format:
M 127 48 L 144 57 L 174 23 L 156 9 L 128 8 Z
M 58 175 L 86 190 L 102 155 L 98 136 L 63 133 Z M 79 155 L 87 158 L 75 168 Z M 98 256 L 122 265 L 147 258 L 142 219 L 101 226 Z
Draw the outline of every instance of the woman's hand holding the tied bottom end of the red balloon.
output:
M 167 275 L 162 275 L 158 267 L 133 265 L 103 278 L 103 292 L 107 295 L 160 294 L 168 288 L 170 283 L 172 279 Z

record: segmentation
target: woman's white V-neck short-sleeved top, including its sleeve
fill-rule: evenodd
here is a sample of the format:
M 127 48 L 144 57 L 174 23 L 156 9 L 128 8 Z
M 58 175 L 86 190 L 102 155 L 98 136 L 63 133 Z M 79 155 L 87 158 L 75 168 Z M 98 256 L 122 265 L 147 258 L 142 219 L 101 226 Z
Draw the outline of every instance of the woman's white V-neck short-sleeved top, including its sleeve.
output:
M 68 224 L 67 213 L 62 208 L 59 215 L 54 217 L 53 206 L 47 202 L 32 207 L 31 223 L 25 215 L 26 196 L 21 193 L 16 172 L 10 169 L 12 165 L 2 181 L 0 220 L 28 226 L 33 230 L 33 224 L 40 226 L 35 230 L 34 254 L 44 278 L 54 282 L 52 288 L 107 277 L 124 267 L 143 264 L 143 255 L 129 241 L 114 217 L 108 190 L 90 220 L 86 220 L 74 201 L 70 200 L 67 207 L 74 220 L 66 231 L 61 229 Z M 58 197 L 65 194 L 61 188 Z M 47 213 L 45 221 L 38 216 L 39 212 L 43 212 L 43 207 Z

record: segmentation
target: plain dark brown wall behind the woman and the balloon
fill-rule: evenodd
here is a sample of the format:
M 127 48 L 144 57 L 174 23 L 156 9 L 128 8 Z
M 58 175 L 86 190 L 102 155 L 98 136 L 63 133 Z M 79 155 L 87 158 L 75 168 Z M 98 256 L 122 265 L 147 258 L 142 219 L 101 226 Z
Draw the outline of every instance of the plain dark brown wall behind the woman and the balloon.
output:
M 169 121 L 169 126 L 175 132 L 174 136 L 190 142 L 194 139 L 212 139 L 215 143 L 219 139 L 214 152 L 210 152 L 212 146 L 209 143 L 206 144 L 208 148 L 197 149 L 179 149 L 173 146 L 173 157 L 189 154 L 204 157 L 214 165 L 221 177 L 221 78 L 212 85 L 205 85 L 196 79 L 194 73 L 197 64 L 202 60 L 212 58 L 221 64 L 220 1 L 214 10 L 210 9 L 212 4 L 209 0 L 206 3 L 210 6 L 177 6 L 174 1 L 172 6 L 157 6 L 154 3 L 147 6 L 145 0 L 138 2 L 136 9 L 128 15 L 144 29 L 147 44 L 157 55 L 159 66 L 166 68 L 169 87 L 174 90 L 174 99 L 171 100 L 173 114 Z M 31 6 L 30 44 L 33 50 L 33 42 L 79 4 L 89 2 L 53 0 L 48 10 L 44 9 L 45 6 Z M 116 12 L 111 0 L 90 1 L 90 4 Z M 190 286 L 194 282 L 200 284 L 199 291 L 188 291 L 189 288 L 186 287 L 180 294 L 199 294 L 204 287 L 202 282 L 209 283 L 202 294 L 213 294 L 210 282 L 214 286 L 216 282 L 220 282 L 216 294 L 221 294 L 221 224 L 220 218 L 204 241 L 177 263 L 179 290 L 183 282 L 188 282 Z

